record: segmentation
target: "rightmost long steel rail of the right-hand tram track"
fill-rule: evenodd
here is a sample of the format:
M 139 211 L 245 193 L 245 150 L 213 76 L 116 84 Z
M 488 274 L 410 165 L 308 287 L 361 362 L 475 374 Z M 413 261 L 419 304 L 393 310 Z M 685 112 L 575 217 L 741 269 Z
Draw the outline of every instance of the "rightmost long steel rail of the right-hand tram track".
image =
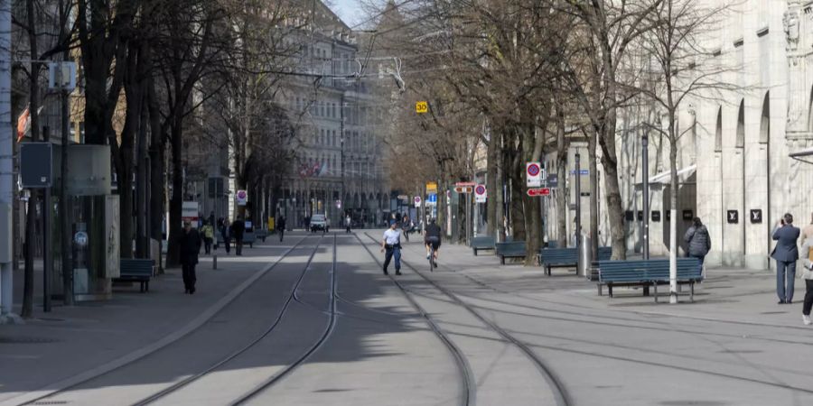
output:
M 373 242 L 376 241 L 375 238 L 373 238 L 369 234 L 365 233 L 365 235 L 367 235 L 367 237 Z M 403 259 L 401 259 L 401 263 L 406 265 L 406 267 L 411 269 L 413 272 L 415 272 L 416 275 L 421 277 L 421 279 L 427 281 L 429 284 L 434 286 L 435 289 L 443 292 L 446 297 L 453 300 L 454 303 L 456 303 L 458 306 L 462 307 L 463 309 L 466 309 L 470 314 L 472 314 L 474 318 L 480 320 L 481 323 L 488 326 L 488 328 L 491 328 L 492 331 L 496 332 L 498 335 L 503 337 L 513 346 L 516 346 L 519 349 L 519 351 L 526 355 L 528 359 L 537 367 L 539 373 L 542 374 L 542 376 L 547 381 L 550 390 L 554 394 L 554 398 L 558 406 L 568 406 L 573 404 L 573 402 L 570 400 L 570 396 L 567 393 L 564 383 L 561 382 L 558 376 L 554 374 L 553 370 L 541 358 L 539 358 L 539 356 L 528 345 L 519 340 L 517 337 L 511 335 L 508 331 L 506 331 L 504 328 L 501 328 L 499 325 L 497 325 L 490 319 L 482 316 L 480 311 L 478 311 L 472 305 L 460 299 L 460 297 L 458 297 L 457 294 L 455 294 L 453 291 L 446 289 L 443 285 L 441 285 L 437 281 L 433 280 L 432 278 L 429 278 L 428 276 L 425 275 L 424 272 L 418 271 L 416 266 L 413 266 L 411 263 L 404 261 Z

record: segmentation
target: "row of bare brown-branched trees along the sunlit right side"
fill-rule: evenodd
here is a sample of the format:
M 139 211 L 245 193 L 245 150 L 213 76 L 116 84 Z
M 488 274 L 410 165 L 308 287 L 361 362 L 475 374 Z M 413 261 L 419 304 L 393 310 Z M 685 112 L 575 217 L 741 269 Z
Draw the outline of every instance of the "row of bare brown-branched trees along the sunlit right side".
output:
M 556 157 L 567 178 L 568 144 L 587 144 L 590 230 L 599 238 L 598 167 L 603 170 L 607 228 L 613 258 L 626 256 L 617 144 L 618 111 L 646 106 L 656 111 L 646 125 L 670 145 L 677 207 L 677 112 L 693 98 L 719 97 L 732 89 L 726 69 L 714 61 L 707 41 L 724 22 L 725 2 L 690 0 L 424 0 L 389 4 L 378 32 L 381 52 L 403 56 L 408 101 L 427 99 L 429 115 L 401 103 L 395 150 L 420 153 L 416 166 L 441 180 L 469 180 L 472 145 L 487 151 L 490 233 L 509 227 L 528 252 L 540 245 L 538 203 L 525 196 L 524 161 Z M 393 16 L 396 15 L 396 16 Z M 661 118 L 664 117 L 662 120 Z M 404 130 L 406 129 L 406 130 Z M 414 141 L 416 134 L 420 142 Z M 425 142 L 428 140 L 428 142 Z M 440 144 L 438 144 L 440 143 Z M 454 150 L 454 145 L 467 148 Z M 451 152 L 451 153 L 444 153 Z M 454 170 L 450 170 L 453 168 Z M 405 170 L 408 171 L 408 170 Z M 646 175 L 644 175 L 646 176 Z M 444 179 L 448 178 L 448 179 Z M 429 175 L 428 178 L 433 178 Z M 402 187 L 415 188 L 404 180 Z M 448 182 L 447 182 L 448 183 Z M 502 193 L 507 185 L 508 193 Z M 567 238 L 565 194 L 559 194 L 556 235 Z M 674 216 L 674 215 L 673 215 Z M 672 223 L 674 228 L 675 223 Z M 671 235 L 671 252 L 677 253 Z M 530 263 L 530 257 L 527 263 Z

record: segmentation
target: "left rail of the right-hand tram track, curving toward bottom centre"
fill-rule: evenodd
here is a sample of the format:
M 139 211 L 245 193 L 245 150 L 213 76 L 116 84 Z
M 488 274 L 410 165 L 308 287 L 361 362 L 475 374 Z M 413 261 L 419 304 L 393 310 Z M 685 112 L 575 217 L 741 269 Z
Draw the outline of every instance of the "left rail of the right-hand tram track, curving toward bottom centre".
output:
M 359 240 L 360 245 L 364 247 L 367 253 L 372 257 L 373 261 L 375 261 L 375 263 L 378 263 L 378 266 L 383 266 L 383 263 L 379 261 L 378 256 L 376 256 L 375 254 L 373 254 L 372 251 L 370 251 L 369 246 L 364 244 L 363 241 L 361 241 L 359 235 L 357 234 L 353 235 L 356 237 L 357 240 Z M 461 405 L 472 406 L 477 404 L 476 401 L 477 383 L 474 379 L 472 366 L 469 364 L 468 360 L 466 359 L 466 356 L 463 355 L 463 351 L 457 345 L 454 344 L 454 342 L 452 341 L 451 338 L 449 338 L 448 334 L 444 331 L 444 329 L 440 328 L 437 322 L 435 322 L 435 318 L 430 316 L 429 313 L 424 309 L 424 307 L 421 306 L 417 302 L 417 300 L 415 300 L 415 298 L 411 296 L 411 293 L 406 289 L 406 287 L 404 287 L 403 284 L 401 284 L 401 282 L 397 281 L 392 277 L 390 277 L 390 280 L 393 281 L 393 283 L 395 283 L 398 290 L 401 291 L 406 300 L 409 301 L 409 304 L 413 307 L 413 309 L 416 309 L 417 313 L 420 314 L 422 318 L 424 318 L 426 324 L 435 333 L 435 336 L 438 337 L 438 339 L 440 339 L 442 343 L 444 343 L 444 346 L 446 346 L 446 348 L 449 350 L 449 353 L 453 356 L 454 362 L 457 365 L 458 372 L 461 374 L 462 377 L 462 387 L 460 393 Z

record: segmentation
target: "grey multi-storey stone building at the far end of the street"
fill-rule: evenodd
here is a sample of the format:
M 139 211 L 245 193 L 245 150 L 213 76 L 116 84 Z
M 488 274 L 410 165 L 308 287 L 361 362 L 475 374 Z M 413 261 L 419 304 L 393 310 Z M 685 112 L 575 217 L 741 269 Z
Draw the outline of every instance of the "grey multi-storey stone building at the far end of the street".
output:
M 327 215 L 333 226 L 347 215 L 377 224 L 389 208 L 378 134 L 384 110 L 369 81 L 358 77 L 365 61 L 357 40 L 317 2 L 313 26 L 288 41 L 301 44 L 297 71 L 304 74 L 287 79 L 277 100 L 296 132 L 296 159 L 277 210 L 290 226 L 313 214 Z

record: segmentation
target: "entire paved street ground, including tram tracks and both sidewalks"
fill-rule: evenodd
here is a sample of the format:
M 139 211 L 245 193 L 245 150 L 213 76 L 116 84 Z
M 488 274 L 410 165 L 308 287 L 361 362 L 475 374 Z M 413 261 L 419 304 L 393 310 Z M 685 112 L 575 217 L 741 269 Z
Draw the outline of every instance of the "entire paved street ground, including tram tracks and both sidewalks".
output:
M 192 296 L 171 270 L 0 326 L 0 404 L 813 402 L 813 330 L 771 273 L 711 270 L 672 306 L 456 245 L 429 272 L 413 241 L 388 277 L 380 234 L 271 238 L 202 259 Z

